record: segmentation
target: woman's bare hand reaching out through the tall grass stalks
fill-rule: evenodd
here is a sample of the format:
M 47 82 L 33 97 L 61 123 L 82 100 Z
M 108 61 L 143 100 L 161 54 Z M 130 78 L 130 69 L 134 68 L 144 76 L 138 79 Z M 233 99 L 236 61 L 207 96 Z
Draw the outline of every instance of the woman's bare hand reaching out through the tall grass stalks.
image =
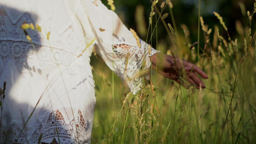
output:
M 156 53 L 149 58 L 152 62 L 152 68 L 155 71 L 158 69 L 157 72 L 166 78 L 172 79 L 177 83 L 183 84 L 183 86 L 187 87 L 187 84 L 181 82 L 180 77 L 184 78 L 183 75 L 180 76 L 179 74 L 183 72 L 182 69 L 184 66 L 186 72 L 186 81 L 188 81 L 190 84 L 195 84 L 197 89 L 199 89 L 199 85 L 201 85 L 202 88 L 205 88 L 205 84 L 195 73 L 204 79 L 207 79 L 208 76 L 195 64 L 179 58 L 174 59 L 172 56 L 163 53 Z

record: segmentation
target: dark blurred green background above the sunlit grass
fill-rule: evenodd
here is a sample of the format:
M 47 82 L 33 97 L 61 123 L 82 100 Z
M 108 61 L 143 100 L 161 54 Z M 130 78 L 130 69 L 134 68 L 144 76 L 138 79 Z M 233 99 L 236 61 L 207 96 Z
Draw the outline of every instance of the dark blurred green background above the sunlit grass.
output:
M 160 9 L 160 4 L 165 0 L 158 1 L 158 9 Z M 110 9 L 107 0 L 102 0 L 102 2 Z M 174 5 L 173 13 L 174 18 L 177 24 L 179 32 L 183 32 L 181 24 L 187 25 L 190 30 L 191 41 L 197 41 L 197 25 L 198 25 L 198 6 L 199 0 L 171 0 Z M 213 12 L 218 12 L 222 17 L 229 29 L 229 33 L 232 38 L 237 36 L 235 29 L 235 22 L 239 20 L 243 26 L 248 25 L 247 11 L 252 12 L 253 3 L 255 0 L 201 0 L 201 16 L 204 18 L 204 21 L 209 25 L 210 28 L 214 28 L 214 25 L 220 25 L 219 20 L 214 16 Z M 136 8 L 139 6 L 144 7 L 144 16 L 146 27 L 148 27 L 149 22 L 149 13 L 151 11 L 151 0 L 114 0 L 114 5 L 116 6 L 116 13 L 122 19 L 122 22 L 128 27 L 134 29 L 136 32 L 139 32 L 138 24 L 135 21 Z M 242 7 L 242 9 L 241 9 Z M 168 9 L 165 9 L 164 12 L 169 12 Z M 255 20 L 256 18 L 254 18 Z M 172 24 L 171 16 L 169 14 L 168 18 L 165 19 L 166 23 Z M 256 24 L 252 24 L 254 29 Z M 224 31 L 221 31 L 222 34 L 225 34 Z M 146 40 L 146 36 L 140 33 L 137 33 L 140 38 Z M 200 35 L 203 35 L 201 31 Z M 153 39 L 156 39 L 156 35 L 153 35 Z M 225 38 L 227 36 L 222 35 Z M 166 29 L 163 24 L 158 25 L 158 38 L 166 41 L 170 41 L 167 36 Z M 201 37 L 203 40 L 204 37 Z M 203 45 L 203 44 L 202 44 Z M 156 47 L 156 42 L 153 41 L 153 45 Z

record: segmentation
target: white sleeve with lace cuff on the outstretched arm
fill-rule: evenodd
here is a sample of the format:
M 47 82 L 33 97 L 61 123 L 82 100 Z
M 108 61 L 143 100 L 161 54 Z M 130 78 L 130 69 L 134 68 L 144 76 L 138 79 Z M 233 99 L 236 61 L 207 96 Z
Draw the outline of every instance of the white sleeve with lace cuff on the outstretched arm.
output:
M 87 1 L 87 2 L 85 2 Z M 149 56 L 158 51 L 128 30 L 117 14 L 100 0 L 85 0 L 85 10 L 96 35 L 97 53 L 134 93 L 141 78 L 137 74 L 150 67 Z

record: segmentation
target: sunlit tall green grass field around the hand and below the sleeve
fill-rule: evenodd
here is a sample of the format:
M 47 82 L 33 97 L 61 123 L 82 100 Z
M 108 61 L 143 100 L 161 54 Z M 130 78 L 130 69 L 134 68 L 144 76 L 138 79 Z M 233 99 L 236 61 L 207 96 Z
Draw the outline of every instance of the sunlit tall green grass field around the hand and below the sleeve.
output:
M 162 12 L 161 2 L 156 4 L 159 12 Z M 142 90 L 132 95 L 118 76 L 108 70 L 104 61 L 93 56 L 97 103 L 92 144 L 256 144 L 254 2 L 251 3 L 254 8 L 244 14 L 246 25 L 234 23 L 236 31 L 232 31 L 232 35 L 224 24 L 229 20 L 222 21 L 218 13 L 214 13 L 215 26 L 209 27 L 212 24 L 199 17 L 195 22 L 199 28 L 197 34 L 189 35 L 189 31 L 195 31 L 193 28 L 175 23 L 174 17 L 178 16 L 172 12 L 175 5 L 173 8 L 164 5 L 160 15 L 167 10 L 166 19 L 172 20 L 173 30 L 166 24 L 167 34 L 170 34 L 166 37 L 171 44 L 158 39 L 158 24 L 165 22 L 158 21 L 159 13 L 154 7 L 152 24 L 146 29 L 147 37 L 156 38 L 144 40 L 156 43 L 156 49 L 163 53 L 174 51 L 205 71 L 209 77 L 203 80 L 205 89 L 197 90 L 194 86 L 185 89 L 152 72 L 152 84 L 145 81 Z M 149 13 L 147 15 L 149 17 Z M 198 15 L 201 15 L 200 11 Z M 190 50 L 195 42 L 191 42 L 190 36 L 194 34 L 199 45 Z

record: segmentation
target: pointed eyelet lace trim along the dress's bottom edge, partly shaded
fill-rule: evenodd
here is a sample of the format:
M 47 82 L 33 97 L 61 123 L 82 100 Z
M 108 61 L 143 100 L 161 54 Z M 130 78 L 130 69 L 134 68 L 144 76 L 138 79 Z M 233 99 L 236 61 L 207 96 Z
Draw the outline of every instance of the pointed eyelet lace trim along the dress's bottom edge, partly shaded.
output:
M 86 123 L 80 110 L 77 118 L 70 123 L 65 122 L 59 110 L 55 110 L 45 123 L 37 121 L 37 128 L 31 137 L 26 137 L 24 132 L 21 132 L 21 128 L 13 123 L 8 131 L 1 133 L 1 143 L 38 144 L 51 143 L 53 139 L 59 144 L 90 143 L 91 130 L 88 130 Z

